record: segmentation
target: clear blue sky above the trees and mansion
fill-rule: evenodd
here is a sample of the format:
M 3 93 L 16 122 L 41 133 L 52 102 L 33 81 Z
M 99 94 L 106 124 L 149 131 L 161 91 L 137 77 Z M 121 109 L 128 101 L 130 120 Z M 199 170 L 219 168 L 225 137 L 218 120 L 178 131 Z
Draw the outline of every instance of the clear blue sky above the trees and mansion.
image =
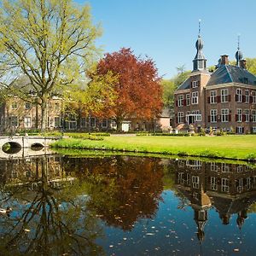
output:
M 97 40 L 104 52 L 130 47 L 148 55 L 160 76 L 170 79 L 176 67 L 192 68 L 198 20 L 201 19 L 203 53 L 207 66 L 219 55 L 235 60 L 237 34 L 244 57 L 256 57 L 255 0 L 76 0 L 90 3 L 94 23 L 102 23 Z

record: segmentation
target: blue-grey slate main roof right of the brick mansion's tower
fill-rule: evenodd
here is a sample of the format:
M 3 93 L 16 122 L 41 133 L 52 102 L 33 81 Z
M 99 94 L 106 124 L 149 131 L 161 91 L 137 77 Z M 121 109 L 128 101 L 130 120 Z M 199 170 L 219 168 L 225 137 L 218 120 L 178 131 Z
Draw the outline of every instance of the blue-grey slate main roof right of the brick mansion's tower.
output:
M 250 84 L 256 86 L 256 77 L 244 68 L 221 65 L 212 73 L 207 86 L 228 83 Z

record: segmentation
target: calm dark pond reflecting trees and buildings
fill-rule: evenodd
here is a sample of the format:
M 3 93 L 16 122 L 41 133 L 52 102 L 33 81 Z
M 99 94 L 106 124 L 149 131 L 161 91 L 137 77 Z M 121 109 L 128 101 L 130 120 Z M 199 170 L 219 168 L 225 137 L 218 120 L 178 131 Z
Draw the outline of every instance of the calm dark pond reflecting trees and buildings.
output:
M 246 163 L 9 158 L 0 187 L 0 255 L 255 255 Z

